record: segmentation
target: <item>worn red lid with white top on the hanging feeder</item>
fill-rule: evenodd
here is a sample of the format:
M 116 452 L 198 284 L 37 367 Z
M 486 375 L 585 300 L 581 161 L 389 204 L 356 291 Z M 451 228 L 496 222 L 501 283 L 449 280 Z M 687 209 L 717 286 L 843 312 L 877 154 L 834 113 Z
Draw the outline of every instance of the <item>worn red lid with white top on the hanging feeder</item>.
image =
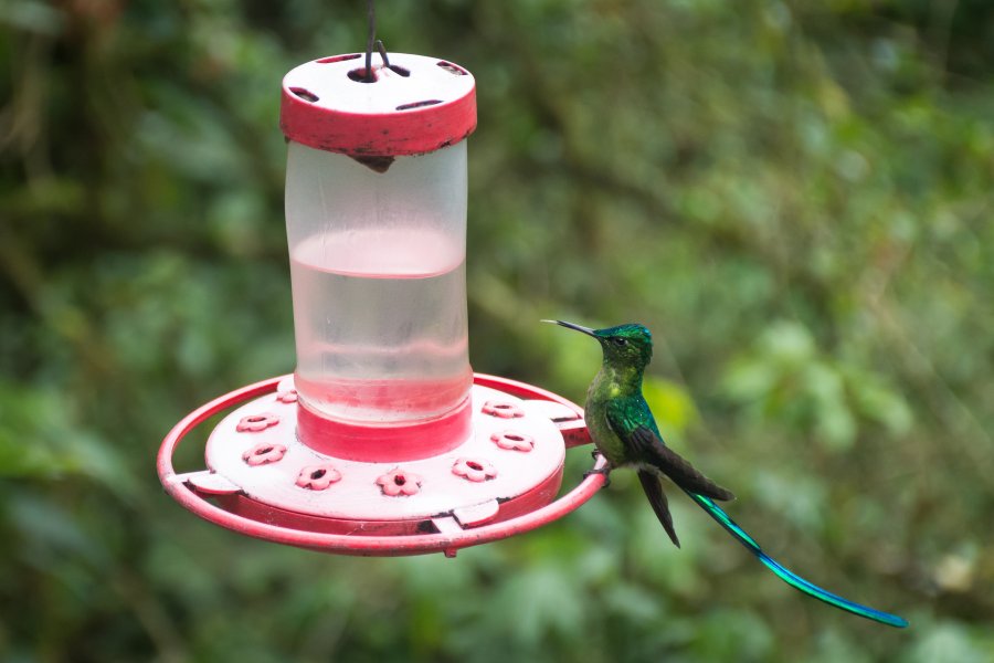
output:
M 373 82 L 366 82 L 361 53 L 292 70 L 283 78 L 283 133 L 308 147 L 352 156 L 420 155 L 473 133 L 476 84 L 469 72 L 423 55 L 389 57 L 389 67 L 372 67 Z

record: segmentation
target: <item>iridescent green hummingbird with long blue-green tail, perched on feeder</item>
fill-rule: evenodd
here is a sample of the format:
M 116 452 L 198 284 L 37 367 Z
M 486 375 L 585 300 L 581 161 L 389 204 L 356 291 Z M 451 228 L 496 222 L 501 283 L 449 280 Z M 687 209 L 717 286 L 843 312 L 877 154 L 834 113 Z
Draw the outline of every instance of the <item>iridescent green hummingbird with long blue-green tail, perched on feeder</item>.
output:
M 601 370 L 586 391 L 584 404 L 586 429 L 598 452 L 606 461 L 604 469 L 595 472 L 607 475 L 617 467 L 634 469 L 653 512 L 677 548 L 680 543 L 663 492 L 664 476 L 794 589 L 866 619 L 896 628 L 908 625 L 905 619 L 896 614 L 844 599 L 797 576 L 766 555 L 755 539 L 716 504 L 716 499 L 727 502 L 734 499 L 734 495 L 698 472 L 666 445 L 652 410 L 642 396 L 642 379 L 653 358 L 653 336 L 644 325 L 626 324 L 591 329 L 563 320 L 542 322 L 581 332 L 601 344 Z

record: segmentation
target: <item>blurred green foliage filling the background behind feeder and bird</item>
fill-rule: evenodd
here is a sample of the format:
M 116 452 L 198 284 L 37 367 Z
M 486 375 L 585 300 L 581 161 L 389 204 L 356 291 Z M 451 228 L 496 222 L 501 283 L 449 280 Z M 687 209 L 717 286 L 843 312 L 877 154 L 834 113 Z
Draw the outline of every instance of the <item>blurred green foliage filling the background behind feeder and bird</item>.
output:
M 278 84 L 359 0 L 0 3 L 0 659 L 994 660 L 994 6 L 381 0 L 468 67 L 477 370 L 581 401 L 641 320 L 670 443 L 804 599 L 636 485 L 398 560 L 239 537 L 159 440 L 292 370 Z M 186 462 L 197 466 L 195 452 Z M 574 452 L 568 483 L 589 459 Z

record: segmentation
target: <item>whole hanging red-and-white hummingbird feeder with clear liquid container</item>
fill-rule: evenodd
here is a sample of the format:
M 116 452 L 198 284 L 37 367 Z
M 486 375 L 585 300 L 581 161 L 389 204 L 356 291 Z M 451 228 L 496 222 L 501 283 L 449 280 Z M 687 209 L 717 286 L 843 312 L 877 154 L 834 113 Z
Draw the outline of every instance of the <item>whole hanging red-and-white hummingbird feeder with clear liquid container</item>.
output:
M 372 66 L 370 51 L 364 66 L 322 57 L 283 81 L 296 371 L 188 414 L 158 472 L 186 508 L 250 536 L 452 556 L 565 515 L 604 476 L 556 499 L 567 448 L 590 441 L 582 410 L 469 367 L 473 76 L 382 48 Z M 228 410 L 207 469 L 178 474 L 179 443 Z

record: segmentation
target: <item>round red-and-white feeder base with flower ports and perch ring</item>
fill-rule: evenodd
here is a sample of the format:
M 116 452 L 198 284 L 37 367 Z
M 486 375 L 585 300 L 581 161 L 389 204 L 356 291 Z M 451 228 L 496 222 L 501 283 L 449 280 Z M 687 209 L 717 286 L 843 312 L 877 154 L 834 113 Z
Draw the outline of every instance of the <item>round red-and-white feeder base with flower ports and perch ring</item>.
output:
M 172 454 L 179 442 L 234 406 L 208 441 L 209 469 L 176 474 Z M 184 507 L 229 529 L 362 556 L 455 555 L 560 518 L 603 486 L 604 477 L 592 474 L 552 503 L 565 449 L 590 442 L 583 411 L 572 402 L 477 375 L 469 407 L 472 425 L 464 438 L 436 455 L 336 457 L 298 440 L 293 377 L 274 378 L 180 421 L 159 450 L 159 478 Z

